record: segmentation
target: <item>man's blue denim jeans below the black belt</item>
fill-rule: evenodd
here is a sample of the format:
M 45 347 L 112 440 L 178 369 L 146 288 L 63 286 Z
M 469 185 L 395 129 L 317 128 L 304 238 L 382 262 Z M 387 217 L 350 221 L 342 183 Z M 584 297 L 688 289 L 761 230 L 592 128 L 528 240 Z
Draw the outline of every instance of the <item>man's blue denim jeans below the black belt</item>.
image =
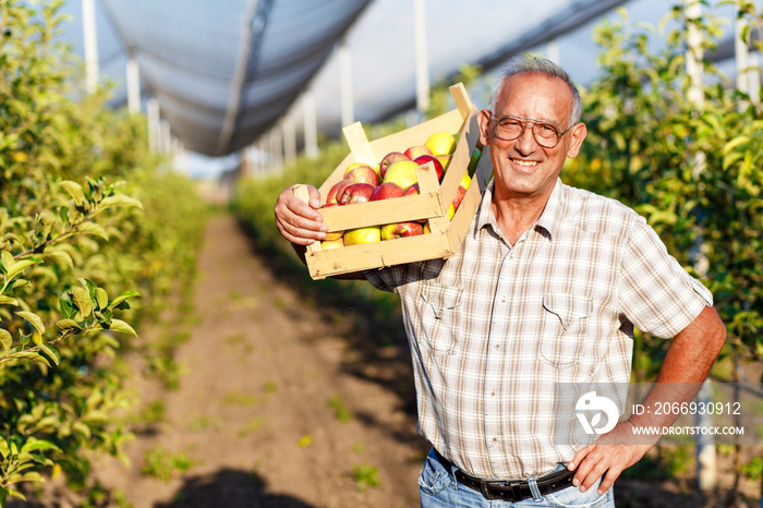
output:
M 524 499 L 519 503 L 488 500 L 477 491 L 459 484 L 456 481 L 453 471 L 446 470 L 435 457 L 434 451 L 429 451 L 424 469 L 419 476 L 419 494 L 421 496 L 422 508 L 458 506 L 464 508 L 615 508 L 615 498 L 611 494 L 611 488 L 600 496 L 596 494 L 597 487 L 598 482 L 586 492 L 580 492 L 578 487 L 570 486 L 545 496 L 538 496 L 537 499 Z

